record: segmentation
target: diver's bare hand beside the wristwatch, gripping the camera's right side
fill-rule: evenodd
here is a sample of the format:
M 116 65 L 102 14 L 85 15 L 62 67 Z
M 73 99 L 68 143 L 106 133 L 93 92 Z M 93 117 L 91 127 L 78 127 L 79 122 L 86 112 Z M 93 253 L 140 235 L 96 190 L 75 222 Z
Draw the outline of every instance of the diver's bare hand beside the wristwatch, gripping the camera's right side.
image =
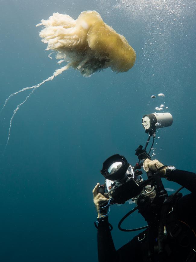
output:
M 164 166 L 161 162 L 159 162 L 158 160 L 150 160 L 150 159 L 146 159 L 144 161 L 144 170 L 146 171 L 146 173 L 148 172 L 152 172 L 152 173 L 156 173 L 159 171 L 160 177 L 165 177 L 165 172 L 166 172 L 166 166 Z

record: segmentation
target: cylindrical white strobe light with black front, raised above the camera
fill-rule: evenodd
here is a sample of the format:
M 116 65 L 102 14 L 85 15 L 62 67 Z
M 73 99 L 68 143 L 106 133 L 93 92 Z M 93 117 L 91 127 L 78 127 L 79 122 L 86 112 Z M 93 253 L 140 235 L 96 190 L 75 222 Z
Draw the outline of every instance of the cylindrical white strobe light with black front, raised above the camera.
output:
M 170 113 L 154 113 L 144 115 L 142 118 L 142 125 L 145 132 L 153 135 L 156 132 L 156 128 L 163 128 L 172 125 L 173 118 Z

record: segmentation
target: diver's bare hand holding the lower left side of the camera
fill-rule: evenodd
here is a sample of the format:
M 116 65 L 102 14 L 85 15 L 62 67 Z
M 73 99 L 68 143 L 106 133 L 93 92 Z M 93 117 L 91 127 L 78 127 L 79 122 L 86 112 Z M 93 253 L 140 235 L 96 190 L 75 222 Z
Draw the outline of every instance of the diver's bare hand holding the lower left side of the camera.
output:
M 95 188 L 93 189 L 93 202 L 95 204 L 95 207 L 96 207 L 96 211 L 97 211 L 97 218 L 100 217 L 100 215 L 106 215 L 106 212 L 107 212 L 107 209 L 104 209 L 104 212 L 100 211 L 100 205 L 103 204 L 103 203 L 106 203 L 107 205 L 107 202 L 109 201 L 109 196 L 107 193 L 104 193 L 103 195 L 101 193 L 99 193 L 99 186 L 100 186 L 100 183 L 97 183 Z

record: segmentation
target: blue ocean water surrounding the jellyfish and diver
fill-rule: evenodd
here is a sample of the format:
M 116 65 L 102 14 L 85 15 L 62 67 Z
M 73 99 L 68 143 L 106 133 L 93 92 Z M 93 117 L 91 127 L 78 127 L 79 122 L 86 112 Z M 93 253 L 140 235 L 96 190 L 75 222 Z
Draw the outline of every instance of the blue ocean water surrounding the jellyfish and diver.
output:
M 0 115 L 0 260 L 98 261 L 92 189 L 103 183 L 103 161 L 123 154 L 135 164 L 147 134 L 144 114 L 164 104 L 173 124 L 160 129 L 156 158 L 195 170 L 195 2 L 109 0 L 72 2 L 1 0 L 0 105 L 13 92 L 33 86 L 59 66 L 48 58 L 36 24 L 53 12 L 74 19 L 96 10 L 124 35 L 137 54 L 126 73 L 110 69 L 84 78 L 68 70 L 28 94 L 12 97 Z M 164 98 L 151 95 L 164 93 Z M 155 158 L 154 157 L 154 158 Z M 144 175 L 145 178 L 145 175 Z M 179 185 L 164 181 L 168 188 Z M 183 191 L 187 193 L 186 190 Z M 136 234 L 118 230 L 132 206 L 112 206 L 109 221 L 119 248 Z M 127 227 L 145 225 L 134 214 Z

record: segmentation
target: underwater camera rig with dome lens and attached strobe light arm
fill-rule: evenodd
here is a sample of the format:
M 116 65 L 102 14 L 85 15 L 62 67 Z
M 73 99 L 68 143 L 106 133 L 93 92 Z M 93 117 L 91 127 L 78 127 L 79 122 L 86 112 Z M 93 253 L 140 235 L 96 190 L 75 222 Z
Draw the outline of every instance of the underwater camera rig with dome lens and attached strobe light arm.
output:
M 107 192 L 110 198 L 110 204 L 124 204 L 126 201 L 141 194 L 147 185 L 152 185 L 156 189 L 158 196 L 164 197 L 167 193 L 163 187 L 158 174 L 148 176 L 147 180 L 143 180 L 141 167 L 146 158 L 151 159 L 150 151 L 153 147 L 156 129 L 164 128 L 172 125 L 173 118 L 170 113 L 154 113 L 144 115 L 142 125 L 145 132 L 148 133 L 148 139 L 143 149 L 142 145 L 135 150 L 139 162 L 132 166 L 122 155 L 115 154 L 106 159 L 103 163 L 101 174 L 105 178 L 105 184 L 100 185 L 99 192 Z M 153 138 L 152 145 L 147 153 L 147 145 L 150 138 Z

